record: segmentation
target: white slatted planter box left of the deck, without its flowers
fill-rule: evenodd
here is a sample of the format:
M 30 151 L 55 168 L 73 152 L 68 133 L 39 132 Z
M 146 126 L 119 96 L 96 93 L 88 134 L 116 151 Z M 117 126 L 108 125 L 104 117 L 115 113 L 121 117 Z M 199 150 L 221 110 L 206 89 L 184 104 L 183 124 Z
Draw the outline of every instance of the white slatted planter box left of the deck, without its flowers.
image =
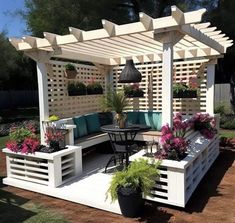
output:
M 68 149 L 54 153 L 35 152 L 26 155 L 3 149 L 7 178 L 58 187 L 82 173 L 81 151 L 81 147 L 68 146 Z

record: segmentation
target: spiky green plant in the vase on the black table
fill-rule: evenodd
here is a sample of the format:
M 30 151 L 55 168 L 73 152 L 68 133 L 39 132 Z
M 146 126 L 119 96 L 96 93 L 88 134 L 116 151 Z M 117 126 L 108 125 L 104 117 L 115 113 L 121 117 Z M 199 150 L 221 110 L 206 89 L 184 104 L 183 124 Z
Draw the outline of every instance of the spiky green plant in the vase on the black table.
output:
M 101 101 L 103 110 L 115 111 L 118 114 L 121 114 L 128 104 L 129 101 L 123 91 L 116 92 L 110 89 Z

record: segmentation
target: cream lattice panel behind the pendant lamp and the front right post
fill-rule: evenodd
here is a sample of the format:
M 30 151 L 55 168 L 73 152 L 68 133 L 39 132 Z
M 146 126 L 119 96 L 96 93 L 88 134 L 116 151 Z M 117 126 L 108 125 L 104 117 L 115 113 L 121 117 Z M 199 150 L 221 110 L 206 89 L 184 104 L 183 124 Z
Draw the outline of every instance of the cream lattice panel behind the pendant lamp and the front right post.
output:
M 183 61 L 174 63 L 174 81 L 188 83 L 190 77 L 194 77 L 199 68 L 207 60 Z M 122 89 L 123 85 L 118 83 L 118 76 L 124 66 L 114 68 L 113 81 L 115 89 Z M 130 110 L 162 110 L 162 63 L 147 63 L 136 65 L 142 74 L 140 88 L 144 91 L 143 98 L 132 98 Z M 202 80 L 200 82 L 197 98 L 174 99 L 173 111 L 184 115 L 192 115 L 195 112 L 206 111 L 206 70 L 203 68 Z

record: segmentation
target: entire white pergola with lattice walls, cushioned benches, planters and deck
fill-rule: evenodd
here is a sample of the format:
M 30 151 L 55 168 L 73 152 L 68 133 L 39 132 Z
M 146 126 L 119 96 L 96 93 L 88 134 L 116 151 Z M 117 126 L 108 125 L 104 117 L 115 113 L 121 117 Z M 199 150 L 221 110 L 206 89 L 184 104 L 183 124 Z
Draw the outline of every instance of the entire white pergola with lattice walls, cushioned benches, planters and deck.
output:
M 232 41 L 215 31 L 216 27 L 201 23 L 204 12 L 183 13 L 173 6 L 171 15 L 163 18 L 140 13 L 140 21 L 131 24 L 103 20 L 103 29 L 82 31 L 70 27 L 68 35 L 44 33 L 45 38 L 11 39 L 17 50 L 37 62 L 41 142 L 45 143 L 43 123 L 56 114 L 61 120 L 54 125 L 68 130 L 68 149 L 52 154 L 20 154 L 4 149 L 7 177 L 3 183 L 121 213 L 117 202 L 110 204 L 110 199 L 105 199 L 112 175 L 104 169 L 115 161 L 114 157 L 105 157 L 102 168 L 97 161 L 94 171 L 88 173 L 82 150 L 111 141 L 115 152 L 124 151 L 127 166 L 140 157 L 151 161 L 146 150 L 134 155 L 129 150 L 135 150 L 135 141 L 158 142 L 162 126 L 168 123 L 169 128 L 173 127 L 173 112 L 181 112 L 185 119 L 206 112 L 217 119 L 218 127 L 213 104 L 215 64 Z M 144 93 L 141 98 L 130 99 L 127 126 L 117 128 L 108 117 L 101 121 L 102 95 L 69 96 L 67 86 L 71 80 L 64 75 L 66 63 L 54 58 L 74 60 L 78 72 L 74 81 L 88 84 L 95 78 L 105 93 L 110 84 L 111 91 L 116 92 L 123 82 L 136 82 L 121 76 L 127 70 L 124 64 L 132 59 L 141 73 L 132 78 L 141 81 L 139 87 Z M 78 59 L 94 66 L 78 63 Z M 198 78 L 197 97 L 173 99 L 173 79 L 188 84 L 192 78 Z M 219 155 L 217 134 L 209 139 L 191 130 L 186 139 L 190 140 L 187 156 L 180 161 L 162 160 L 160 177 L 152 196 L 146 199 L 185 207 Z

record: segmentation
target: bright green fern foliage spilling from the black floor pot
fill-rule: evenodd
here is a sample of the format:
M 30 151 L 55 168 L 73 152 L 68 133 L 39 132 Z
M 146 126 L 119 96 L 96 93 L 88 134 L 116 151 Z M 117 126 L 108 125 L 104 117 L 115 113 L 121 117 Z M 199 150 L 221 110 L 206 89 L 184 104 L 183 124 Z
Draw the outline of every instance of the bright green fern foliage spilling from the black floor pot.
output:
M 111 195 L 111 200 L 117 199 L 117 191 L 120 187 L 129 187 L 136 190 L 140 188 L 144 196 L 151 196 L 151 189 L 159 176 L 157 167 L 160 162 L 152 161 L 148 163 L 145 159 L 131 162 L 127 169 L 116 172 L 110 183 L 107 195 Z

